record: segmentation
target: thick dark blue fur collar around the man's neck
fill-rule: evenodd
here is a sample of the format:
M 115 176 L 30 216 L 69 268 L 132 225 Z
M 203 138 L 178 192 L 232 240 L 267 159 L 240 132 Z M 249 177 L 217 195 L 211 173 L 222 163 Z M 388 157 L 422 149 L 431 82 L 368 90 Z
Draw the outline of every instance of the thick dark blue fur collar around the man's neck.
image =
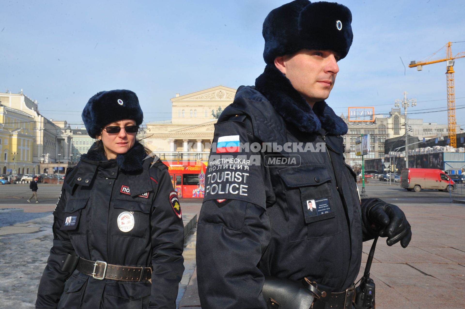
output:
M 255 80 L 255 88 L 266 96 L 287 123 L 300 131 L 312 133 L 323 128 L 333 135 L 347 133 L 347 124 L 325 101 L 316 102 L 312 109 L 274 64 L 266 65 L 263 74 Z

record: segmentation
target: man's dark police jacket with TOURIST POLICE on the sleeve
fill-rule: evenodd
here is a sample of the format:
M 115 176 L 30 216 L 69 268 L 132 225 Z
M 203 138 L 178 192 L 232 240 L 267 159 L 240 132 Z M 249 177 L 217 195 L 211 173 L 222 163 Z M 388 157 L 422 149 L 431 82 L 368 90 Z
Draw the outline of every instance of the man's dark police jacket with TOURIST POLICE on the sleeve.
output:
M 197 230 L 203 309 L 266 309 L 264 276 L 339 292 L 359 273 L 365 209 L 345 163 L 347 125 L 313 110 L 274 65 L 241 86 L 215 125 Z M 248 145 L 236 148 L 238 143 Z

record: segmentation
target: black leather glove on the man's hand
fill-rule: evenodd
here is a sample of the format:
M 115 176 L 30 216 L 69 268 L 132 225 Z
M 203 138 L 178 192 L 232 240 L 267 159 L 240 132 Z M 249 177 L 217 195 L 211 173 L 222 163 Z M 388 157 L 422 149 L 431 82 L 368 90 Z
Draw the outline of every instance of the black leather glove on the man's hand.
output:
M 393 204 L 376 204 L 368 210 L 368 218 L 375 225 L 380 237 L 387 237 L 386 243 L 392 246 L 400 241 L 402 248 L 406 248 L 412 239 L 410 224 L 405 214 Z

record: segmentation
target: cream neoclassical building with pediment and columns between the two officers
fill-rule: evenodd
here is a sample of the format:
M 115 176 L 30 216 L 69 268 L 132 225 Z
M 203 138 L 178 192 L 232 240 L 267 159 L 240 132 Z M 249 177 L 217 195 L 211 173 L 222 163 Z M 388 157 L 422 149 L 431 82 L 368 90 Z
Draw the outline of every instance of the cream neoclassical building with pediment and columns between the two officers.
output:
M 225 86 L 171 99 L 171 120 L 147 123 L 145 145 L 155 152 L 209 151 L 219 113 L 233 103 L 236 90 Z

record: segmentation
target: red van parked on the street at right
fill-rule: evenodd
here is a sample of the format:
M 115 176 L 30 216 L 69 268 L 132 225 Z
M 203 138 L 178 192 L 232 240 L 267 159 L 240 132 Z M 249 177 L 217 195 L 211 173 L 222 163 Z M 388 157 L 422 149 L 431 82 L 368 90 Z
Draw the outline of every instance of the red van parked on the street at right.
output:
M 421 189 L 453 191 L 457 189 L 457 184 L 438 169 L 402 169 L 400 178 L 400 186 L 408 191 L 419 192 Z

